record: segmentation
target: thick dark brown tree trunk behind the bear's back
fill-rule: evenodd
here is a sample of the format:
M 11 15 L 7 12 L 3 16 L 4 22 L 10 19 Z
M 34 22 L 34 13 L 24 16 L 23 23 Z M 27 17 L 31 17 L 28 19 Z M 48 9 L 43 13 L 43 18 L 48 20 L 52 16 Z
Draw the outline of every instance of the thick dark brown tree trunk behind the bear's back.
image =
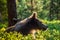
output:
M 8 8 L 8 26 L 14 25 L 17 21 L 14 21 L 14 18 L 17 18 L 16 12 L 16 0 L 7 0 Z

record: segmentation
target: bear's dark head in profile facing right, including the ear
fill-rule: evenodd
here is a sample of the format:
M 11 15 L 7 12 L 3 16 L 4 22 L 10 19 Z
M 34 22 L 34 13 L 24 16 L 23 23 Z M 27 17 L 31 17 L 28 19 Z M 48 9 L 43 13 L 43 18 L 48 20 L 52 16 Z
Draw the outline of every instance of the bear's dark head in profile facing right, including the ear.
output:
M 26 23 L 31 29 L 46 30 L 48 27 L 37 19 L 37 13 L 34 12 L 30 17 L 29 21 Z

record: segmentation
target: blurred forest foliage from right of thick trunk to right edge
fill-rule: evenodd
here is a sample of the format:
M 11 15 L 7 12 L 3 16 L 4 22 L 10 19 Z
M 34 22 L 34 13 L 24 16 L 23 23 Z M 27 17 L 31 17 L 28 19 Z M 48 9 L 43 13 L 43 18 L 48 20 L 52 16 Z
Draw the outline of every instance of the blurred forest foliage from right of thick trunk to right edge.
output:
M 59 2 L 59 0 L 34 0 L 34 10 L 38 13 L 39 18 L 56 20 L 60 17 Z M 19 0 L 17 4 L 18 18 L 28 17 L 31 14 L 31 8 L 31 0 Z

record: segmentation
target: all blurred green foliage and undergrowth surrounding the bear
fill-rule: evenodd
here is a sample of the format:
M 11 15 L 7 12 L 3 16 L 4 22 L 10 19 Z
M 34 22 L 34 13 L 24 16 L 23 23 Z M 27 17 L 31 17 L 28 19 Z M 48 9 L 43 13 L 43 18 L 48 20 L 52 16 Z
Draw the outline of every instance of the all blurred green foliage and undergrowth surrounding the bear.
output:
M 33 10 L 32 4 L 33 2 Z M 25 19 L 36 11 L 38 19 L 48 25 L 48 30 L 39 31 L 36 40 L 60 40 L 60 0 L 16 0 L 17 19 Z M 0 0 L 0 40 L 32 40 L 18 33 L 4 33 L 8 26 L 7 0 Z M 12 36 L 12 37 L 11 37 Z M 17 37 L 18 36 L 18 37 Z

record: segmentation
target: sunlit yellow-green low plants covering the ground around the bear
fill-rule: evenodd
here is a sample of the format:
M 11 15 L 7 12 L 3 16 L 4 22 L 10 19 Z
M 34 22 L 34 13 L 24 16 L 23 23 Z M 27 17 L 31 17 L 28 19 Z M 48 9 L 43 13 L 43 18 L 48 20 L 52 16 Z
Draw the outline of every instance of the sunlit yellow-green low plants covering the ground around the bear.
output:
M 60 40 L 60 21 L 44 21 L 48 25 L 48 30 L 38 31 L 36 40 Z M 23 36 L 17 32 L 4 33 L 5 28 L 0 29 L 0 40 L 33 40 L 31 34 Z

